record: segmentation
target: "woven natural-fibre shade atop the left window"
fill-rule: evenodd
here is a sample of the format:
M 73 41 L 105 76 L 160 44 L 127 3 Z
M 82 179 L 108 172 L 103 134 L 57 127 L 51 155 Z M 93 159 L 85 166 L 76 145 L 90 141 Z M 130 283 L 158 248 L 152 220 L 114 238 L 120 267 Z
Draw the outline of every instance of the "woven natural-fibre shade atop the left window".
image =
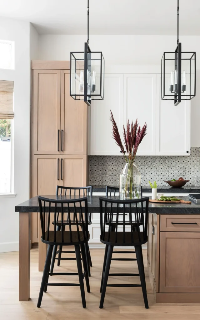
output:
M 13 81 L 0 80 L 0 119 L 13 119 Z

